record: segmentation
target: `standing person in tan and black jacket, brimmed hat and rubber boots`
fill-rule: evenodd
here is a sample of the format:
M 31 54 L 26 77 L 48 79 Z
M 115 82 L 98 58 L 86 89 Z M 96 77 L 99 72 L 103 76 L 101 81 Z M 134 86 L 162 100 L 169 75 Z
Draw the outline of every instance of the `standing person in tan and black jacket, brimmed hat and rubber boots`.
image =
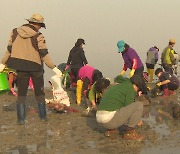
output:
M 0 72 L 6 65 L 17 72 L 17 118 L 20 125 L 25 124 L 25 100 L 30 77 L 34 85 L 40 119 L 46 121 L 43 62 L 59 77 L 62 75 L 49 57 L 45 38 L 39 32 L 41 27 L 45 28 L 44 18 L 40 14 L 33 14 L 27 21 L 28 24 L 13 29 L 7 51 L 0 64 Z

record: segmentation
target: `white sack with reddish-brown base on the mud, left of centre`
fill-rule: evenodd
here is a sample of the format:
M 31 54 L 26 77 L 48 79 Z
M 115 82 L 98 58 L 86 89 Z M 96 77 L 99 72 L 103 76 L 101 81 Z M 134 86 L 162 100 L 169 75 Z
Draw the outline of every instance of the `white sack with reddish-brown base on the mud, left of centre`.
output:
M 57 112 L 67 112 L 70 106 L 69 96 L 61 86 L 61 78 L 54 75 L 50 78 L 53 99 L 46 99 L 46 104 L 49 108 Z

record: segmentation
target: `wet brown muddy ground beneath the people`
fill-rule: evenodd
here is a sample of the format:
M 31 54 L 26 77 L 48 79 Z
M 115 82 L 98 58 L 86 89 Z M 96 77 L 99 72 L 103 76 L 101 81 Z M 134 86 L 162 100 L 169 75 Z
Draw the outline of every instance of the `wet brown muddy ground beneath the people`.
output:
M 17 125 L 16 98 L 8 93 L 0 96 L 0 153 L 5 154 L 179 154 L 180 120 L 171 116 L 171 106 L 180 102 L 180 91 L 175 96 L 151 99 L 151 105 L 144 106 L 142 127 L 137 130 L 146 136 L 143 142 L 128 141 L 121 135 L 114 138 L 104 136 L 94 115 L 82 117 L 85 106 L 75 104 L 75 96 L 68 91 L 71 107 L 78 112 L 55 113 L 48 110 L 48 121 L 38 117 L 34 93 L 29 90 L 26 110 L 27 123 Z M 46 98 L 51 98 L 46 89 Z

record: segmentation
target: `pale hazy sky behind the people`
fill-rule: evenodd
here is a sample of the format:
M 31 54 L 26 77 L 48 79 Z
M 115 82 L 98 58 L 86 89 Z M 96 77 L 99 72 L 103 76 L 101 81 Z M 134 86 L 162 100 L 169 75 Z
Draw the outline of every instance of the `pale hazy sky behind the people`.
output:
M 123 67 L 118 40 L 125 40 L 143 62 L 151 46 L 162 50 L 170 38 L 175 38 L 179 52 L 179 7 L 180 0 L 0 0 L 0 57 L 11 30 L 40 13 L 47 27 L 41 32 L 56 65 L 67 61 L 69 50 L 81 37 L 89 64 L 113 78 Z M 47 83 L 54 74 L 45 70 Z

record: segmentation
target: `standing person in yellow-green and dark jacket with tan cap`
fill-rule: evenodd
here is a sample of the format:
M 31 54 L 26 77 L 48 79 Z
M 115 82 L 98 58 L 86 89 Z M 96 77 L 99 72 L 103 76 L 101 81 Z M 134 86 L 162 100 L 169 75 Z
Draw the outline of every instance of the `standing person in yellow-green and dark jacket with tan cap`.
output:
M 163 50 L 161 54 L 161 63 L 166 72 L 173 74 L 172 66 L 175 64 L 174 57 L 174 45 L 176 44 L 174 39 L 169 40 L 168 46 Z

